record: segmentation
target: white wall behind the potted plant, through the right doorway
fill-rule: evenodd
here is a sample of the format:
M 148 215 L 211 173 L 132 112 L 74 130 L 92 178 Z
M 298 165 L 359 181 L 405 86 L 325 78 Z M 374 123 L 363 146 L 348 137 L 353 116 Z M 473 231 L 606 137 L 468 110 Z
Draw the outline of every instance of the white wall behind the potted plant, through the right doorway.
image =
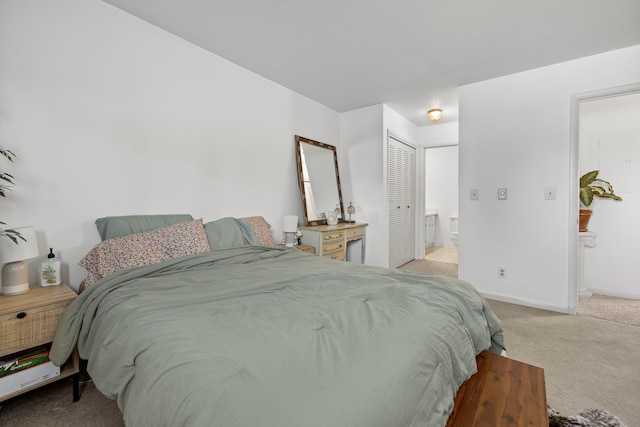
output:
M 595 198 L 585 249 L 585 286 L 606 295 L 640 298 L 640 93 L 580 104 L 580 175 L 600 170 L 618 202 Z

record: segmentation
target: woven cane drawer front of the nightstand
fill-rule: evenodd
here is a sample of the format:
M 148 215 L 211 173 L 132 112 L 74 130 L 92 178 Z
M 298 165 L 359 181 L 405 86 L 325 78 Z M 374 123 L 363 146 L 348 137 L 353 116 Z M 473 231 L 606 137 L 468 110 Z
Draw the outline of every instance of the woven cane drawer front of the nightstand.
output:
M 59 302 L 0 317 L 0 354 L 53 341 L 60 317 L 70 303 Z

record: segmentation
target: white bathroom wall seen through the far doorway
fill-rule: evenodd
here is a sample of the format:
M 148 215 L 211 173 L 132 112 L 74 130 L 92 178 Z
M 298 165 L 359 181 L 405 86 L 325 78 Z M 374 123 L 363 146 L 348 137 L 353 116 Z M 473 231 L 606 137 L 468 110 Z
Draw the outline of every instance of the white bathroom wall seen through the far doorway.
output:
M 437 209 L 435 246 L 453 246 L 449 217 L 458 216 L 458 146 L 425 150 L 425 206 Z

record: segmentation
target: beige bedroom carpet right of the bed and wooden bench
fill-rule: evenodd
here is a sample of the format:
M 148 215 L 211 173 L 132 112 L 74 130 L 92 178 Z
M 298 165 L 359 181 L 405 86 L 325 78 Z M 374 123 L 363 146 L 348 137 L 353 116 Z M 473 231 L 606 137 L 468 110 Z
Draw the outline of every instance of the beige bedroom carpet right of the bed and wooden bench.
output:
M 489 301 L 507 354 L 545 371 L 547 402 L 565 415 L 602 409 L 640 426 L 640 327 Z

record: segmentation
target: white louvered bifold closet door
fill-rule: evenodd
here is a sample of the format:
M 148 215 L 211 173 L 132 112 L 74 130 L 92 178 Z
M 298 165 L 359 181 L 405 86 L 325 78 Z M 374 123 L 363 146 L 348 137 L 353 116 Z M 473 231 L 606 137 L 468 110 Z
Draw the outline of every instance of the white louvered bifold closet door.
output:
M 389 267 L 415 259 L 416 149 L 388 138 Z

